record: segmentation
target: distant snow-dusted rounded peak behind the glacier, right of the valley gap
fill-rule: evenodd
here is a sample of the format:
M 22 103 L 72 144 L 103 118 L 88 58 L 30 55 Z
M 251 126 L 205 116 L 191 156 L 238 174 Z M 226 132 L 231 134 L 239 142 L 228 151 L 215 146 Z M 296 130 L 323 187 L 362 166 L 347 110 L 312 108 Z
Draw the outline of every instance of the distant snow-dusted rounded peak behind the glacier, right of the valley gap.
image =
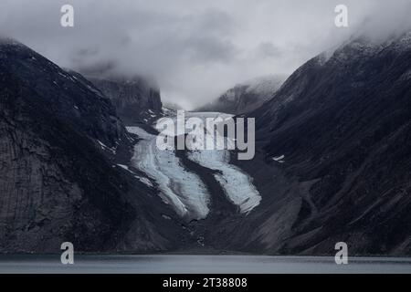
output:
M 242 114 L 256 110 L 264 101 L 270 99 L 284 81 L 282 76 L 254 78 L 228 89 L 218 99 L 196 111 L 219 111 Z

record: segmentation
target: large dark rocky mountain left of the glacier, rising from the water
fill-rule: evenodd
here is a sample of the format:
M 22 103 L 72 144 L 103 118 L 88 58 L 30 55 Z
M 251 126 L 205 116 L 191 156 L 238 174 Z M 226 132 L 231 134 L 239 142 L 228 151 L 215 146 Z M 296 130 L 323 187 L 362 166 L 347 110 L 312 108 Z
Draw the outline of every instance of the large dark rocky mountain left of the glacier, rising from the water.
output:
M 0 252 L 158 251 L 189 238 L 124 170 L 136 137 L 86 78 L 0 41 Z M 162 216 L 163 214 L 163 216 Z

